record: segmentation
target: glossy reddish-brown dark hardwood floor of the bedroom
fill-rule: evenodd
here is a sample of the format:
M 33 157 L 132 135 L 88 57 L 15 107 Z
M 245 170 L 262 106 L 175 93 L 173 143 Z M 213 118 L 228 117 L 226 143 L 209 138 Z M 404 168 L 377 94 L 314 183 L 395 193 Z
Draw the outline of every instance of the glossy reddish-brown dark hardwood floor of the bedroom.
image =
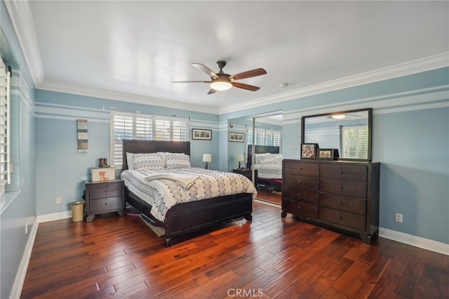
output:
M 375 244 L 281 218 L 255 202 L 228 222 L 161 246 L 139 217 L 41 223 L 21 298 L 448 298 L 449 256 Z

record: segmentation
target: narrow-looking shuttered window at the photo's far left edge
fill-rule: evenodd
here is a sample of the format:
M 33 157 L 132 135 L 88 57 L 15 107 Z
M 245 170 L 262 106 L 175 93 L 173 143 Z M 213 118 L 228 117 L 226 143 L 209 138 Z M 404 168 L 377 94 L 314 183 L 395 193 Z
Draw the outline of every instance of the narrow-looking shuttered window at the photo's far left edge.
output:
M 0 58 L 0 194 L 11 183 L 11 68 Z

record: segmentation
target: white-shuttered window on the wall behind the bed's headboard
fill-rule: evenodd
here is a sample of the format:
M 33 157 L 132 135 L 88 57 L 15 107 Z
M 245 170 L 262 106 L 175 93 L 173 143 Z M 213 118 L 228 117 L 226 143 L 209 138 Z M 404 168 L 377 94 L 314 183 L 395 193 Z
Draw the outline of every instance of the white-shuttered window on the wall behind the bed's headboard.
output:
M 111 113 L 112 165 L 123 164 L 124 139 L 187 141 L 188 120 L 123 112 Z

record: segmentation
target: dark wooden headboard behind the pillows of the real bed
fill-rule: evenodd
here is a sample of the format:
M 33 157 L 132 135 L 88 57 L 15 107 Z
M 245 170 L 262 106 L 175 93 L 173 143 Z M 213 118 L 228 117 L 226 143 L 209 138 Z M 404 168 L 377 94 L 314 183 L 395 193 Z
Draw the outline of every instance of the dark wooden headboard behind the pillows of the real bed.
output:
M 123 140 L 123 171 L 128 169 L 126 153 L 182 152 L 190 156 L 189 141 Z

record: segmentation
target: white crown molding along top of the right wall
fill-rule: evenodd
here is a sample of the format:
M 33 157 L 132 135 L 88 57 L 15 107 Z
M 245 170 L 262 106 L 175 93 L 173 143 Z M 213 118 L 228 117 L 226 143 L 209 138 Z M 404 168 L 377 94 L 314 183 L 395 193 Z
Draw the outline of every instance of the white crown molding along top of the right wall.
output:
M 338 89 L 369 84 L 387 79 L 393 79 L 396 77 L 416 74 L 419 72 L 426 72 L 432 69 L 439 69 L 441 67 L 448 67 L 448 66 L 449 66 L 449 52 L 440 53 L 437 55 L 429 56 L 427 58 L 421 58 L 410 62 L 404 62 L 399 65 L 393 65 L 391 67 L 384 67 L 382 69 L 377 69 L 371 72 L 356 74 L 354 76 L 344 77 L 342 79 L 327 81 L 320 84 L 306 86 L 304 88 L 298 88 L 293 91 L 288 91 L 285 93 L 279 93 L 277 95 L 271 95 L 265 98 L 259 98 L 256 100 L 243 102 L 239 105 L 223 107 L 218 109 L 218 114 L 237 112 L 243 109 L 251 109 L 264 105 L 283 102 L 286 100 L 295 100 L 297 98 L 304 98 L 310 95 L 326 93 L 329 91 L 336 91 Z

